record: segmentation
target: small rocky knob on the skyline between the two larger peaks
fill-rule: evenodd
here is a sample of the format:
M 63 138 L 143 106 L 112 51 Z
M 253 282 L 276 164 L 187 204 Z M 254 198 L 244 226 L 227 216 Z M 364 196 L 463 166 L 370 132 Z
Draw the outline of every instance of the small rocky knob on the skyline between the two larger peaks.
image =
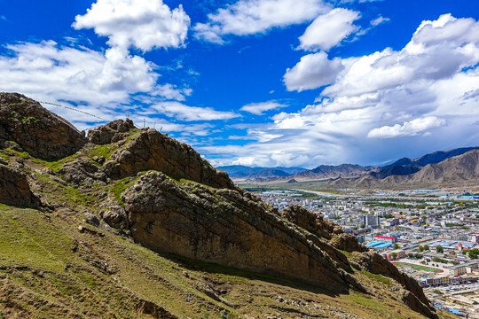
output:
M 92 144 L 104 145 L 121 141 L 128 137 L 130 130 L 135 128 L 130 119 L 112 121 L 98 128 L 90 129 L 88 139 Z

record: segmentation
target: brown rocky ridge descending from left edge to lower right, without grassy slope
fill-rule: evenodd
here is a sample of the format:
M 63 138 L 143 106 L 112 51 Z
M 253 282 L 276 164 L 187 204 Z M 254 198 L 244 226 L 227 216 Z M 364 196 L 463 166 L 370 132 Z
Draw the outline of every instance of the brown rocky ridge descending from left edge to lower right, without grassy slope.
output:
M 57 128 L 66 121 L 35 101 L 16 94 L 2 94 L 2 98 L 8 103 L 0 105 L 1 114 L 14 109 L 19 118 L 25 116 L 18 105 L 44 113 L 52 126 L 41 129 L 57 137 L 51 146 L 30 148 L 24 143 L 25 129 L 30 127 L 21 121 L 9 123 L 8 132 L 0 131 L 0 138 L 8 141 L 0 150 L 0 183 L 5 185 L 2 190 L 8 189 L 0 191 L 1 203 L 35 206 L 47 219 L 51 212 L 74 224 L 75 216 L 85 216 L 91 226 L 79 226 L 75 236 L 87 234 L 100 238 L 97 242 L 108 237 L 104 231 L 111 232 L 157 253 L 287 278 L 334 293 L 355 291 L 396 300 L 397 290 L 380 293 L 376 288 L 380 283 L 365 281 L 367 274 L 386 276 L 402 292 L 398 302 L 436 317 L 419 285 L 389 261 L 365 252 L 354 237 L 299 206 L 282 212 L 267 206 L 235 187 L 227 174 L 211 167 L 189 145 L 153 129 L 134 128 L 128 120 L 90 131 L 87 143 L 75 129 L 59 134 Z M 37 120 L 43 122 L 43 118 Z M 0 123 L 6 122 L 0 117 Z M 66 146 L 72 140 L 79 144 Z M 59 161 L 44 160 L 44 155 L 55 157 L 60 152 L 64 157 Z M 82 245 L 75 244 L 72 252 Z M 95 257 L 93 246 L 89 249 L 82 258 L 91 265 L 108 275 L 119 271 L 120 266 Z M 211 287 L 199 291 L 224 303 L 224 297 Z M 165 313 L 159 309 L 154 311 Z

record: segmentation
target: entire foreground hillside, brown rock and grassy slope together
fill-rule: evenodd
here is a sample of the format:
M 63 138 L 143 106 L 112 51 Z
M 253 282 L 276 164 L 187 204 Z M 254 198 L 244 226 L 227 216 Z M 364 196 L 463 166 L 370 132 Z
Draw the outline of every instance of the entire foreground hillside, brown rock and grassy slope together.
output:
M 32 99 L 0 101 L 2 317 L 437 317 L 355 237 L 268 206 L 187 144 L 129 120 L 87 138 Z

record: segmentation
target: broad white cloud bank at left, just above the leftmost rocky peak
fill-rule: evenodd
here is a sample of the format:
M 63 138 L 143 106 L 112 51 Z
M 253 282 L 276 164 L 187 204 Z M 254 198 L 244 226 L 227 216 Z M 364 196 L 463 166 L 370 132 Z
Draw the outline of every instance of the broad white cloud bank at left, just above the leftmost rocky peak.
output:
M 8 54 L 0 56 L 2 90 L 70 107 L 78 105 L 82 111 L 107 121 L 126 116 L 125 105 L 131 103 L 131 95 L 148 94 L 154 102 L 184 100 L 191 94 L 191 89 L 157 84 L 159 74 L 154 72 L 152 63 L 118 48 L 100 52 L 43 41 L 10 44 L 6 49 Z M 45 106 L 79 128 L 91 126 L 85 123 L 98 122 L 84 113 Z

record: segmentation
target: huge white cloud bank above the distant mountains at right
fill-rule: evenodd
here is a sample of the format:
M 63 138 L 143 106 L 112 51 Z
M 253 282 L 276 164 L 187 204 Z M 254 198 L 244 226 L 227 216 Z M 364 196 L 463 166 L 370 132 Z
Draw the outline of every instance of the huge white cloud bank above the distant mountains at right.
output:
M 254 157 L 257 165 L 274 167 L 379 164 L 475 145 L 479 139 L 478 27 L 475 19 L 446 14 L 423 21 L 399 51 L 384 48 L 332 61 L 322 51 L 306 55 L 285 74 L 287 89 L 330 85 L 315 104 L 299 112 L 276 114 L 273 122 L 256 129 L 263 136 L 280 134 L 280 139 L 266 141 L 249 135 L 255 140 L 245 146 L 205 151 L 217 159 L 228 152 L 237 162 Z M 327 72 L 329 64 L 335 66 L 334 72 Z

